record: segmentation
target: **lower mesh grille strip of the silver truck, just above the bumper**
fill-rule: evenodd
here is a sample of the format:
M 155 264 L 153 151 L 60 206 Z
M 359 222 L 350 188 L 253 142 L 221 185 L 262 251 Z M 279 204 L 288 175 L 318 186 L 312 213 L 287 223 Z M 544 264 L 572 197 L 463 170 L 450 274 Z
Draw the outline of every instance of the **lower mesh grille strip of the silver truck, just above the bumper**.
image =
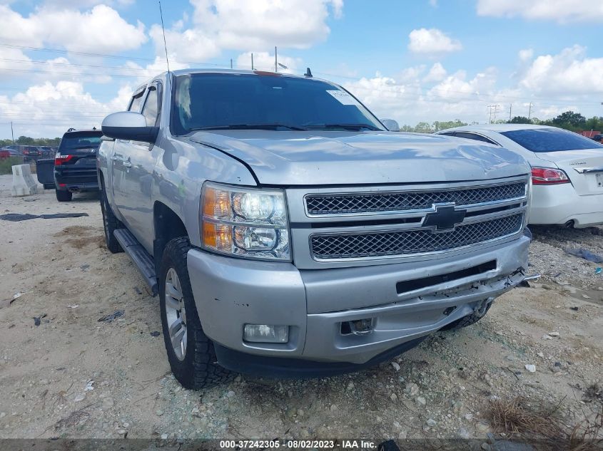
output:
M 523 213 L 484 222 L 457 226 L 451 232 L 432 233 L 429 229 L 395 232 L 315 234 L 310 239 L 316 260 L 361 259 L 379 256 L 406 256 L 446 251 L 487 242 L 520 232 Z

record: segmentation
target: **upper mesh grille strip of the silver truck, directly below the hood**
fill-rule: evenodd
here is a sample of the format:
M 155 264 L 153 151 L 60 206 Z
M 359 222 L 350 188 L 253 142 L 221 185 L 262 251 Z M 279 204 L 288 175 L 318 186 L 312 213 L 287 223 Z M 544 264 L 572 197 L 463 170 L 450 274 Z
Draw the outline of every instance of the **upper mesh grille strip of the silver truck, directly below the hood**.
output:
M 505 201 L 524 196 L 525 182 L 519 182 L 461 190 L 307 195 L 305 205 L 309 216 L 319 216 L 323 214 L 404 212 L 405 210 L 428 209 L 433 204 L 444 202 L 470 205 Z

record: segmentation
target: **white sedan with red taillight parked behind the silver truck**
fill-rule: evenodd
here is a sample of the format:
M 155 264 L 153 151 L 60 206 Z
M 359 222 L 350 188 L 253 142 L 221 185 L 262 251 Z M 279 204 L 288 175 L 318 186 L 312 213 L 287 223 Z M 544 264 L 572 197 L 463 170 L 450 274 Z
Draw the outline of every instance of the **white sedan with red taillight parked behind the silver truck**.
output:
M 556 127 L 467 125 L 437 132 L 519 153 L 532 166 L 530 224 L 603 224 L 603 145 Z

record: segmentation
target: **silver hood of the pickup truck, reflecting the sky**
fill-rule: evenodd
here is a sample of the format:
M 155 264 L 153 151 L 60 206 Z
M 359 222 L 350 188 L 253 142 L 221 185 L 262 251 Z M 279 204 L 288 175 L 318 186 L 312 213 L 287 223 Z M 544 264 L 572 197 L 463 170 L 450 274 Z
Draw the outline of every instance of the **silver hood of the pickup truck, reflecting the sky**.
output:
M 529 172 L 515 152 L 441 135 L 213 130 L 186 139 L 245 162 L 262 185 L 455 182 Z

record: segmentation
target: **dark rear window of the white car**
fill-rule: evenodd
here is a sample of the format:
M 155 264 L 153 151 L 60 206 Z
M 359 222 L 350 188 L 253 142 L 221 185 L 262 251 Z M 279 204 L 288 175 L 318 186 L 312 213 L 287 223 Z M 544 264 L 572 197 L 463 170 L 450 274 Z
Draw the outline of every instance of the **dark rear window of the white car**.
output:
M 532 152 L 561 152 L 563 150 L 601 149 L 597 141 L 559 128 L 532 128 L 502 132 L 510 140 Z

